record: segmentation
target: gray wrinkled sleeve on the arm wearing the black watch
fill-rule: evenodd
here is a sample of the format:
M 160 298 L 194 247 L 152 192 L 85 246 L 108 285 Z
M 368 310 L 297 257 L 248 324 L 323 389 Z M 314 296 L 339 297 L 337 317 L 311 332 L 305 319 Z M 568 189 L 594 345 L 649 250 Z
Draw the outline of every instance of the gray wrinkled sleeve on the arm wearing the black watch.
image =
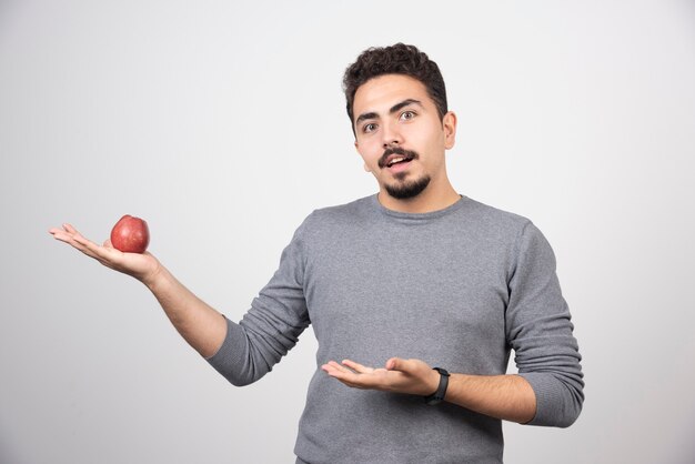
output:
M 520 234 L 515 254 L 508 281 L 506 336 L 520 375 L 536 395 L 536 415 L 530 424 L 566 427 L 582 411 L 584 381 L 555 256 L 531 222 Z

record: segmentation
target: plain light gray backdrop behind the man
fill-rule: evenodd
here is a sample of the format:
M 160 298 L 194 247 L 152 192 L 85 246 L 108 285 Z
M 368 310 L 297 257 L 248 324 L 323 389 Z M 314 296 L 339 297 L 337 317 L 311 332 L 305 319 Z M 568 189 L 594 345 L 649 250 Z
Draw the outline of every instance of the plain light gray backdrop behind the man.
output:
M 376 191 L 340 80 L 395 41 L 444 73 L 454 186 L 544 231 L 573 310 L 583 415 L 505 424 L 506 461 L 695 460 L 694 2 L 0 0 L 0 462 L 292 462 L 311 330 L 235 389 L 47 231 L 145 218 L 240 319 L 306 214 Z

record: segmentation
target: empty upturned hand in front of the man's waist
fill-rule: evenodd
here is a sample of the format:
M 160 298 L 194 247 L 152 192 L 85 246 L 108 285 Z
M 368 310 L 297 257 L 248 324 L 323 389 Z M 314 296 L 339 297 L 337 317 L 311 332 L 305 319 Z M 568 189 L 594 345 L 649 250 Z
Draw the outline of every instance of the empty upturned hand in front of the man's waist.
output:
M 351 360 L 329 361 L 321 366 L 330 376 L 355 389 L 381 390 L 427 396 L 440 384 L 440 373 L 420 360 L 392 357 L 384 367 L 367 367 Z

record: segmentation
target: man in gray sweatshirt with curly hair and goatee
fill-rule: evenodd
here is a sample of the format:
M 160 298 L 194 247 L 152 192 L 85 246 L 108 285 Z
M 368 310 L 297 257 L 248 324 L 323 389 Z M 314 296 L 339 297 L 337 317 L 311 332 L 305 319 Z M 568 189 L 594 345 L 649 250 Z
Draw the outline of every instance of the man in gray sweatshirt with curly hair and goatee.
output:
M 99 246 L 68 224 L 51 233 L 141 280 L 235 385 L 263 376 L 312 324 L 321 369 L 299 463 L 501 462 L 501 420 L 572 424 L 584 384 L 553 252 L 528 220 L 451 185 L 456 117 L 437 65 L 411 46 L 370 49 L 344 87 L 379 193 L 310 214 L 239 324 L 149 253 Z M 505 374 L 512 349 L 518 375 Z

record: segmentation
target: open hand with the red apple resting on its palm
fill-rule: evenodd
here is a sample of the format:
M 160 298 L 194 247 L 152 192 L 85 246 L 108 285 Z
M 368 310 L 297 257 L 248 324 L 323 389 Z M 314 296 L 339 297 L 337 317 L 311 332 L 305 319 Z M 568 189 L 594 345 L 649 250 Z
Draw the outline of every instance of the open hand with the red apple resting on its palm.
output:
M 63 224 L 62 229 L 53 228 L 49 230 L 49 233 L 53 235 L 56 240 L 72 245 L 74 249 L 93 258 L 107 268 L 132 275 L 145 285 L 151 284 L 161 271 L 160 262 L 149 252 L 142 254 L 123 253 L 114 249 L 110 240 L 107 240 L 103 245 L 100 246 L 82 236 L 82 234 L 70 224 Z

